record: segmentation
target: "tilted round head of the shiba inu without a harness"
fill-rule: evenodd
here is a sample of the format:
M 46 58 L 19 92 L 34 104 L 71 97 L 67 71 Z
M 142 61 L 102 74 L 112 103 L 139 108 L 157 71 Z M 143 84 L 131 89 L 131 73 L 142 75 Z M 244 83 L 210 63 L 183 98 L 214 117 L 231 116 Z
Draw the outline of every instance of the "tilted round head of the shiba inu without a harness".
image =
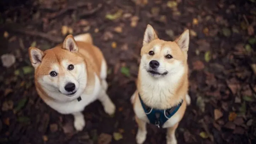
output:
M 49 97 L 66 102 L 82 94 L 87 84 L 86 64 L 72 35 L 63 44 L 44 52 L 30 47 L 29 56 L 35 69 L 35 83 Z

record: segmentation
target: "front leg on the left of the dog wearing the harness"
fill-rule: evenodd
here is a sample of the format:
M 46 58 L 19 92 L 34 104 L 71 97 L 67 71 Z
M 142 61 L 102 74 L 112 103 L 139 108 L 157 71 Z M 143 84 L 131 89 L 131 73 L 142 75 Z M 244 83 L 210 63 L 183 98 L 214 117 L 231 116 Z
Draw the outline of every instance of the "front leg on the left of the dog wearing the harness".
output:
M 146 140 L 146 134 L 147 134 L 146 122 L 142 121 L 137 116 L 135 116 L 135 121 L 138 124 L 138 132 L 136 135 L 136 142 L 137 142 L 137 144 L 142 144 Z

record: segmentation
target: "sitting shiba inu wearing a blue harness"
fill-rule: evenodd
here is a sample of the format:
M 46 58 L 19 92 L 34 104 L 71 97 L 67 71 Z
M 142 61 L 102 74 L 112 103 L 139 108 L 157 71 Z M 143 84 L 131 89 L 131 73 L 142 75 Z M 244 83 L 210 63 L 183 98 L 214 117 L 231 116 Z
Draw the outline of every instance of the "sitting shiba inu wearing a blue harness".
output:
M 146 123 L 167 128 L 167 144 L 177 144 L 175 130 L 191 101 L 187 93 L 188 45 L 188 30 L 171 42 L 159 39 L 153 27 L 147 26 L 140 53 L 137 90 L 131 97 L 138 124 L 138 144 L 146 139 Z

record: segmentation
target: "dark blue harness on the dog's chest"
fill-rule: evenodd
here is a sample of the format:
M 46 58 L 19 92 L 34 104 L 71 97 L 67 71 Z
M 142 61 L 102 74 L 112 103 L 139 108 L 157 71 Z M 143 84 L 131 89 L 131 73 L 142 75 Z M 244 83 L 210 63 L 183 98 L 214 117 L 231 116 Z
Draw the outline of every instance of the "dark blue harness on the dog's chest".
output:
M 183 100 L 181 100 L 181 102 L 177 106 L 171 107 L 166 110 L 158 110 L 158 109 L 146 106 L 145 103 L 142 101 L 140 94 L 139 94 L 139 99 L 144 109 L 144 112 L 149 119 L 149 122 L 151 124 L 155 124 L 156 126 L 158 126 L 158 128 L 160 127 L 162 128 L 164 123 L 178 111 L 178 109 L 180 108 L 183 102 Z

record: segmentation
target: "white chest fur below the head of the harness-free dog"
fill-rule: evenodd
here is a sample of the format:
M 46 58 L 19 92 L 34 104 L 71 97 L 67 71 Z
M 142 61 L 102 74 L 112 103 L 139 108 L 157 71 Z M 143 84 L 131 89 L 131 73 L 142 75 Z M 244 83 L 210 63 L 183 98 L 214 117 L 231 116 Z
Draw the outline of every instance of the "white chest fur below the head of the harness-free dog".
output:
M 55 102 L 55 101 L 46 101 L 47 105 L 52 107 L 54 110 L 62 114 L 70 114 L 74 112 L 80 112 L 84 110 L 85 106 L 89 105 L 91 102 L 94 102 L 98 98 L 98 93 L 101 90 L 101 84 L 98 76 L 95 74 L 95 85 L 92 94 L 87 95 L 85 92 L 80 96 L 81 100 L 77 99 L 70 102 Z

